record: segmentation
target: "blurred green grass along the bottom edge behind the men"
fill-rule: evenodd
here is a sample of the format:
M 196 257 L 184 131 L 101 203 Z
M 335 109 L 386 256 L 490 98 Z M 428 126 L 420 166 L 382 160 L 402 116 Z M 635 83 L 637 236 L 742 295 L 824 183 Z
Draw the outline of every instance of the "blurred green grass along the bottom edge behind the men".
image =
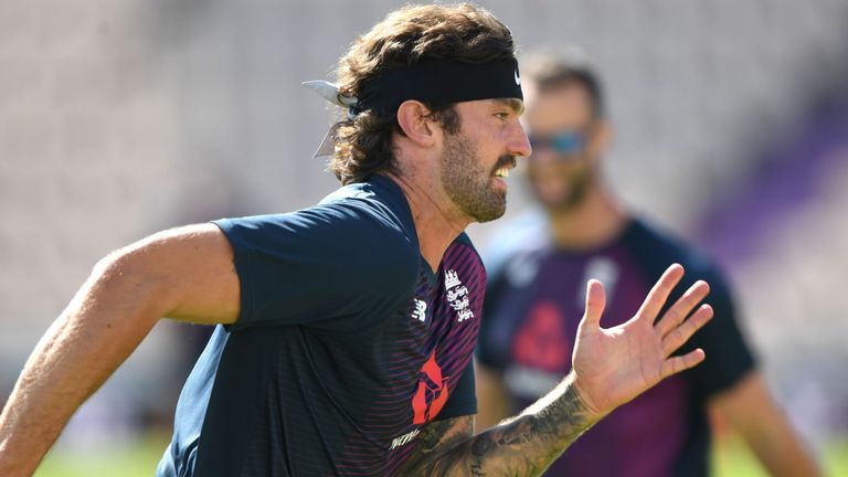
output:
M 137 443 L 103 454 L 80 454 L 56 449 L 44 460 L 36 477 L 149 477 L 167 445 L 167 436 L 148 436 Z M 848 477 L 848 438 L 825 449 L 828 476 Z M 713 468 L 717 477 L 767 476 L 751 453 L 735 438 L 725 438 L 716 447 Z

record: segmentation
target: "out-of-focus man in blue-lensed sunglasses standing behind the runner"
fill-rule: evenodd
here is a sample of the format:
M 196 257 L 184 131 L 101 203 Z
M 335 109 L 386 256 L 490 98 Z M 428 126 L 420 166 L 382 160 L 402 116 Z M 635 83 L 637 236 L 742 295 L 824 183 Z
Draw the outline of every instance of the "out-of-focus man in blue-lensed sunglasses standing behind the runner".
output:
M 522 71 L 533 150 L 527 174 L 544 210 L 494 240 L 500 253 L 488 264 L 478 353 L 480 425 L 523 409 L 569 372 L 587 278 L 606 285 L 614 311 L 604 324 L 614 326 L 614 317 L 636 310 L 650 284 L 677 262 L 691 272 L 688 279 L 711 285 L 716 318 L 691 343 L 709 359 L 615 411 L 548 475 L 707 475 L 710 410 L 745 438 L 773 475 L 818 475 L 770 396 L 717 267 L 628 213 L 602 180 L 611 126 L 600 81 L 585 59 L 579 52 L 541 54 Z

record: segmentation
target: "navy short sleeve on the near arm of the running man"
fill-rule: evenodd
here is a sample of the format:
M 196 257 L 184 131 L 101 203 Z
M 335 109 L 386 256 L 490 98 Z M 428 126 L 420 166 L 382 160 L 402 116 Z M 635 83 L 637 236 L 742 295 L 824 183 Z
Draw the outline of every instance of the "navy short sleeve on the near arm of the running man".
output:
M 333 203 L 214 223 L 233 246 L 241 286 L 232 330 L 367 326 L 358 320 L 401 306 L 417 276 L 417 256 L 401 227 L 361 206 Z

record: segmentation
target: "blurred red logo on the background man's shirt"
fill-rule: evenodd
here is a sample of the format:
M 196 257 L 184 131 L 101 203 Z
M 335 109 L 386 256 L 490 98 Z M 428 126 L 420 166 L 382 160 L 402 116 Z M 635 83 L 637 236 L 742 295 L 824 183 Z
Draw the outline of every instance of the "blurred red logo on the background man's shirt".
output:
M 512 356 L 521 364 L 561 372 L 571 358 L 564 317 L 556 305 L 541 301 L 527 315 L 512 341 Z

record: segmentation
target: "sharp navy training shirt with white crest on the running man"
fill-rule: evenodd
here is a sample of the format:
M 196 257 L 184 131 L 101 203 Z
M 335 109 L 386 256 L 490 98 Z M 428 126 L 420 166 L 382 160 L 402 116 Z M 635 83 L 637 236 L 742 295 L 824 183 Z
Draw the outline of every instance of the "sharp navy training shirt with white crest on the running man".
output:
M 242 311 L 186 382 L 157 475 L 392 475 L 422 426 L 477 412 L 483 263 L 462 234 L 433 273 L 393 181 L 215 223 Z

